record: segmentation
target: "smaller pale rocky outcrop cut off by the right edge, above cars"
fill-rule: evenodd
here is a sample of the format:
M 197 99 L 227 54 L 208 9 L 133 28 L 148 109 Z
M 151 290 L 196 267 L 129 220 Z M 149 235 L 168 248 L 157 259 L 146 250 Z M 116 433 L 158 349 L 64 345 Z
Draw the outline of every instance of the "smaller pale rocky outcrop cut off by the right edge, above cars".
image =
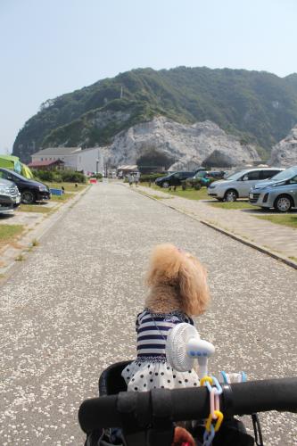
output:
M 297 165 L 297 125 L 273 147 L 268 164 L 285 168 Z

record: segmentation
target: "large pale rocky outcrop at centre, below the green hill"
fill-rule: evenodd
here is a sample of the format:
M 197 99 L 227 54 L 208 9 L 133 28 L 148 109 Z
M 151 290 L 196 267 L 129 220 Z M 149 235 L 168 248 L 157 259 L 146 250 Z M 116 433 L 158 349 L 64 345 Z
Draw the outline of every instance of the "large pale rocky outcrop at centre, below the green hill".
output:
M 172 170 L 195 169 L 203 161 L 233 167 L 260 159 L 255 147 L 242 145 L 210 120 L 185 125 L 162 116 L 120 132 L 103 152 L 112 166 L 137 164 L 152 153 L 157 159 L 159 154 Z

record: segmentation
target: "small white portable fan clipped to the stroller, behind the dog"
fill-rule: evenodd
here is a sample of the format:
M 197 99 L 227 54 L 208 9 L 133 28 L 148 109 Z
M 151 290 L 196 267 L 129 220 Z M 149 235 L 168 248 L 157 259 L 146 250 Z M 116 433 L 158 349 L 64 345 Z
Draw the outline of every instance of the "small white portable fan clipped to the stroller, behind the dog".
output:
M 169 331 L 165 351 L 167 361 L 178 372 L 191 370 L 194 360 L 198 359 L 199 377 L 202 378 L 207 375 L 207 361 L 215 348 L 212 343 L 200 339 L 194 326 L 183 322 Z

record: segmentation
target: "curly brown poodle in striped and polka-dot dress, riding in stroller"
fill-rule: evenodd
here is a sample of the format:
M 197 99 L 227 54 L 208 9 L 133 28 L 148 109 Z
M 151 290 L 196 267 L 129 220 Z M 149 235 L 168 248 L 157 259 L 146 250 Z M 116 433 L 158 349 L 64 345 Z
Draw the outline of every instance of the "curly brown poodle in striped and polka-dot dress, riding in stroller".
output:
M 169 330 L 201 315 L 210 300 L 206 269 L 192 254 L 173 244 L 153 249 L 146 284 L 150 291 L 136 318 L 137 357 L 122 371 L 128 391 L 199 385 L 194 369 L 179 372 L 166 358 Z

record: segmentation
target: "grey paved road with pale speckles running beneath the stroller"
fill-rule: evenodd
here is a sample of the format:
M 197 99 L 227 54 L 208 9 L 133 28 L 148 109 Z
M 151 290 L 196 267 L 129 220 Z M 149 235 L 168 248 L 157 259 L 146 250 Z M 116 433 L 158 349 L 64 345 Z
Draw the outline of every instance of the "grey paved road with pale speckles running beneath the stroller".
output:
M 209 268 L 212 305 L 196 324 L 217 346 L 211 370 L 296 375 L 293 268 L 125 186 L 100 184 L 0 289 L 2 445 L 83 444 L 79 403 L 96 395 L 103 368 L 134 357 L 143 271 L 164 241 Z M 266 445 L 295 444 L 295 416 L 261 419 Z

